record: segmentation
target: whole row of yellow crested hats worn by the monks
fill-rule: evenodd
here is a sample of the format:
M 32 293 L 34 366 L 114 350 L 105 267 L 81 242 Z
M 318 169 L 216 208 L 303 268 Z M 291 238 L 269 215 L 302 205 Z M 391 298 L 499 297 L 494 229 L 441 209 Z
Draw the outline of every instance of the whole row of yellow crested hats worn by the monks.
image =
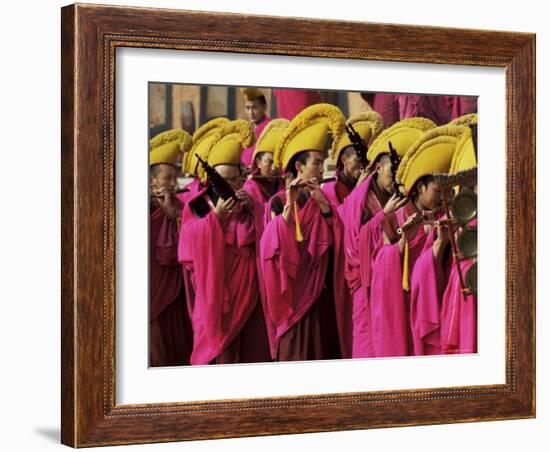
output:
M 448 125 L 436 127 L 425 118 L 409 118 L 383 130 L 380 115 L 361 113 L 347 123 L 368 143 L 367 158 L 374 162 L 389 152 L 389 142 L 397 150 L 402 162 L 397 181 L 409 192 L 418 178 L 435 172 L 456 172 L 476 166 L 475 150 L 469 123 L 476 115 L 460 117 Z M 340 153 L 351 145 L 345 132 L 342 112 L 331 104 L 316 104 L 304 109 L 292 121 L 271 121 L 258 138 L 254 155 L 273 152 L 275 164 L 287 170 L 297 153 L 310 150 L 324 152 L 329 132 L 334 139 L 331 157 L 337 161 Z M 196 154 L 212 166 L 239 164 L 243 147 L 254 142 L 252 125 L 248 121 L 229 121 L 217 118 L 200 127 L 191 137 L 187 132 L 164 132 L 150 142 L 150 164 L 175 164 L 177 153 L 183 152 L 183 171 L 202 175 Z

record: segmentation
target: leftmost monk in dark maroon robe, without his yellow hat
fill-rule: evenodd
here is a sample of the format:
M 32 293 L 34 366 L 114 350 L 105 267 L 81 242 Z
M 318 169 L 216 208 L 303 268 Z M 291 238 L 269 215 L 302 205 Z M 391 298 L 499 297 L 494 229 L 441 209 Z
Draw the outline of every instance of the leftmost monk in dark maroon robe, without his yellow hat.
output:
M 174 195 L 176 168 L 151 167 L 150 202 L 150 365 L 189 364 L 193 336 L 177 259 L 183 203 Z

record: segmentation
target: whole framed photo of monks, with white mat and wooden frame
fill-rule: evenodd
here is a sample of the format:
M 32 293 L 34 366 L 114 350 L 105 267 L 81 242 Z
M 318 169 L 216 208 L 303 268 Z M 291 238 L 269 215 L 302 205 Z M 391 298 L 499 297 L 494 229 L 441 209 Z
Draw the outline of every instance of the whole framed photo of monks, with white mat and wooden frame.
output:
M 534 74 L 525 33 L 63 8 L 62 442 L 534 417 Z

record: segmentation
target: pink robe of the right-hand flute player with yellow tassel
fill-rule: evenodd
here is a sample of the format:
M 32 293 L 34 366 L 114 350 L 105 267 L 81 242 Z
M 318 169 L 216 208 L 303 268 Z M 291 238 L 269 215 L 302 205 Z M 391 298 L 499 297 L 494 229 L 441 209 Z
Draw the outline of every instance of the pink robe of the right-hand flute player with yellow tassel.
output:
M 395 216 L 402 225 L 416 211 L 409 202 Z M 428 235 L 421 225 L 409 241 L 409 281 Z M 407 356 L 413 352 L 410 293 L 403 290 L 402 256 L 397 243 L 381 247 L 372 267 L 371 319 L 374 355 Z

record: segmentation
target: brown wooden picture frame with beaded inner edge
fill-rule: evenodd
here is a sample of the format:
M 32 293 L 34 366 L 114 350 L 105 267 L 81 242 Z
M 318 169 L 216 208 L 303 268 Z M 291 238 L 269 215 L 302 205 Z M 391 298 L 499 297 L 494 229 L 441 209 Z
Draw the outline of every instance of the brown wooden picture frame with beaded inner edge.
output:
M 534 35 L 97 5 L 63 8 L 61 32 L 64 444 L 535 415 Z M 506 68 L 506 384 L 117 406 L 114 69 L 125 46 Z

